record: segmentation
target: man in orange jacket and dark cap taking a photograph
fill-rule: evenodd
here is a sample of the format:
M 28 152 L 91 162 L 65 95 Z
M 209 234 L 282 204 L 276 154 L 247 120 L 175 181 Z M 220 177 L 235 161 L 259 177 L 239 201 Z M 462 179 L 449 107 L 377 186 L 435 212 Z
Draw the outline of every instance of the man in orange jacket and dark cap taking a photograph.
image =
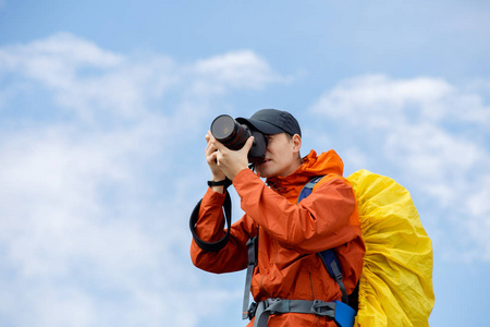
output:
M 341 158 L 333 150 L 319 156 L 311 150 L 302 159 L 299 124 L 286 111 L 262 109 L 237 121 L 267 136 L 265 160 L 255 165 L 254 173 L 247 159 L 252 136 L 242 149 L 230 150 L 208 132 L 205 153 L 215 183 L 210 183 L 201 201 L 195 231 L 207 242 L 223 238 L 221 207 L 225 189 L 219 182 L 225 178 L 233 182 L 245 215 L 232 225 L 230 240 L 222 250 L 206 252 L 193 241 L 194 265 L 218 274 L 245 269 L 246 243 L 258 235 L 258 263 L 250 289 L 257 303 L 268 299 L 331 302 L 341 300 L 342 292 L 316 253 L 335 249 L 345 289 L 352 293 L 362 272 L 365 247 L 356 198 L 342 177 Z M 297 203 L 304 185 L 317 175 L 324 178 L 307 198 Z M 248 326 L 253 324 L 254 319 Z M 327 316 L 290 312 L 272 314 L 267 326 L 335 323 Z

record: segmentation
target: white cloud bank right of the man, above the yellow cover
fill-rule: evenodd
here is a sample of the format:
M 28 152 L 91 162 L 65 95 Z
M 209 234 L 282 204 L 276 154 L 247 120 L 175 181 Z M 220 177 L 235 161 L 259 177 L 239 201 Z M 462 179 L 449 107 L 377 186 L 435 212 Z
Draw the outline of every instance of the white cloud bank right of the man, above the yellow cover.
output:
M 347 153 L 369 158 L 370 150 L 376 152 L 380 158 L 372 160 L 378 166 L 395 167 L 413 193 L 430 198 L 421 216 L 443 231 L 436 242 L 446 246 L 439 250 L 488 261 L 490 229 L 477 227 L 487 225 L 489 214 L 482 194 L 490 189 L 490 149 L 485 142 L 490 136 L 490 107 L 474 86 L 431 77 L 359 76 L 327 90 L 310 111 L 342 124 L 346 134 L 369 135 L 346 142 L 352 147 Z M 465 241 L 462 232 L 468 237 Z M 480 255 L 474 256 L 475 251 Z

